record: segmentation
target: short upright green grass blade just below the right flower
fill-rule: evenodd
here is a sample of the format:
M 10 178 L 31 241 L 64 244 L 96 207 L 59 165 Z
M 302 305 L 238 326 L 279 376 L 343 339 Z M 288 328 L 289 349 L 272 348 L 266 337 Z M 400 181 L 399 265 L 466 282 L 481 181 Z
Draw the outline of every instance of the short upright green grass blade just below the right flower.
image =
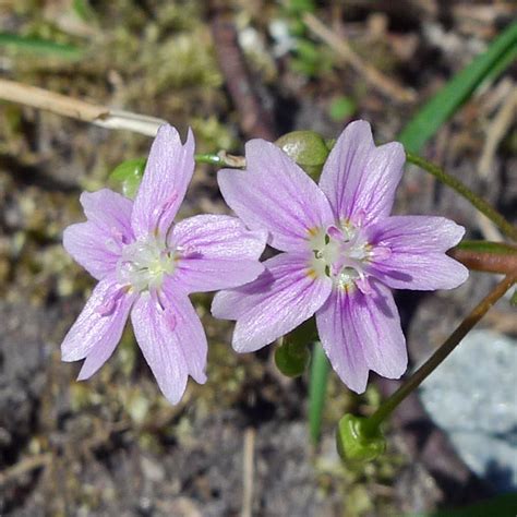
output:
M 309 384 L 309 428 L 314 445 L 317 445 L 322 432 L 322 416 L 327 394 L 328 370 L 328 360 L 321 344 L 316 341 L 312 352 Z

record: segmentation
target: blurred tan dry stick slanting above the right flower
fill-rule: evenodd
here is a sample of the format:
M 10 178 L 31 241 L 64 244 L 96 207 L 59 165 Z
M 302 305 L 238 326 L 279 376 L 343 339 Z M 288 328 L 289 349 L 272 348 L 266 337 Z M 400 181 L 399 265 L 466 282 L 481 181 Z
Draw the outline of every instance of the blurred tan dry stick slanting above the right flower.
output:
M 365 63 L 344 38 L 330 31 L 313 14 L 305 14 L 303 22 L 315 36 L 327 44 L 342 60 L 350 63 L 356 72 L 362 75 L 366 82 L 380 89 L 383 94 L 395 97 L 401 103 L 412 103 L 417 100 L 416 92 L 400 86 L 371 64 Z

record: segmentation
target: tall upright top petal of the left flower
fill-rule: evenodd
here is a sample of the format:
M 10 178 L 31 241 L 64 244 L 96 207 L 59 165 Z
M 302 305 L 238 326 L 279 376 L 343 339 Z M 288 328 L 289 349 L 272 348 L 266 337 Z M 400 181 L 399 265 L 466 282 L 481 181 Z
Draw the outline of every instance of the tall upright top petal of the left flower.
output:
M 194 136 L 181 144 L 178 131 L 161 125 L 151 147 L 144 177 L 134 200 L 131 225 L 137 237 L 169 229 L 194 172 Z

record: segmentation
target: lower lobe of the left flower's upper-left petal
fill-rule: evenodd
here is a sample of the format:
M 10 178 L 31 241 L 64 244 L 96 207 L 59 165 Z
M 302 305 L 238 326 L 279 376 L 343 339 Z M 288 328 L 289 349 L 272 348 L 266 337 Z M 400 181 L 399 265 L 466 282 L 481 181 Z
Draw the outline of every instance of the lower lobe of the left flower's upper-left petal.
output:
M 97 280 L 115 272 L 120 256 L 120 244 L 89 221 L 65 228 L 63 247 Z

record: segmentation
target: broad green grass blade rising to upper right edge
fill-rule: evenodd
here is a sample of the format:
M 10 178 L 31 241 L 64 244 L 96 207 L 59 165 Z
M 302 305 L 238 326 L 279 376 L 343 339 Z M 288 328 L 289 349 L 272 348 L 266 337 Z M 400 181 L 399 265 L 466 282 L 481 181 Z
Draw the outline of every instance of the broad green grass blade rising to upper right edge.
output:
M 516 47 L 514 22 L 418 111 L 397 140 L 407 151 L 418 153 L 486 77 L 495 79 L 495 72 L 502 73 L 513 62 Z

